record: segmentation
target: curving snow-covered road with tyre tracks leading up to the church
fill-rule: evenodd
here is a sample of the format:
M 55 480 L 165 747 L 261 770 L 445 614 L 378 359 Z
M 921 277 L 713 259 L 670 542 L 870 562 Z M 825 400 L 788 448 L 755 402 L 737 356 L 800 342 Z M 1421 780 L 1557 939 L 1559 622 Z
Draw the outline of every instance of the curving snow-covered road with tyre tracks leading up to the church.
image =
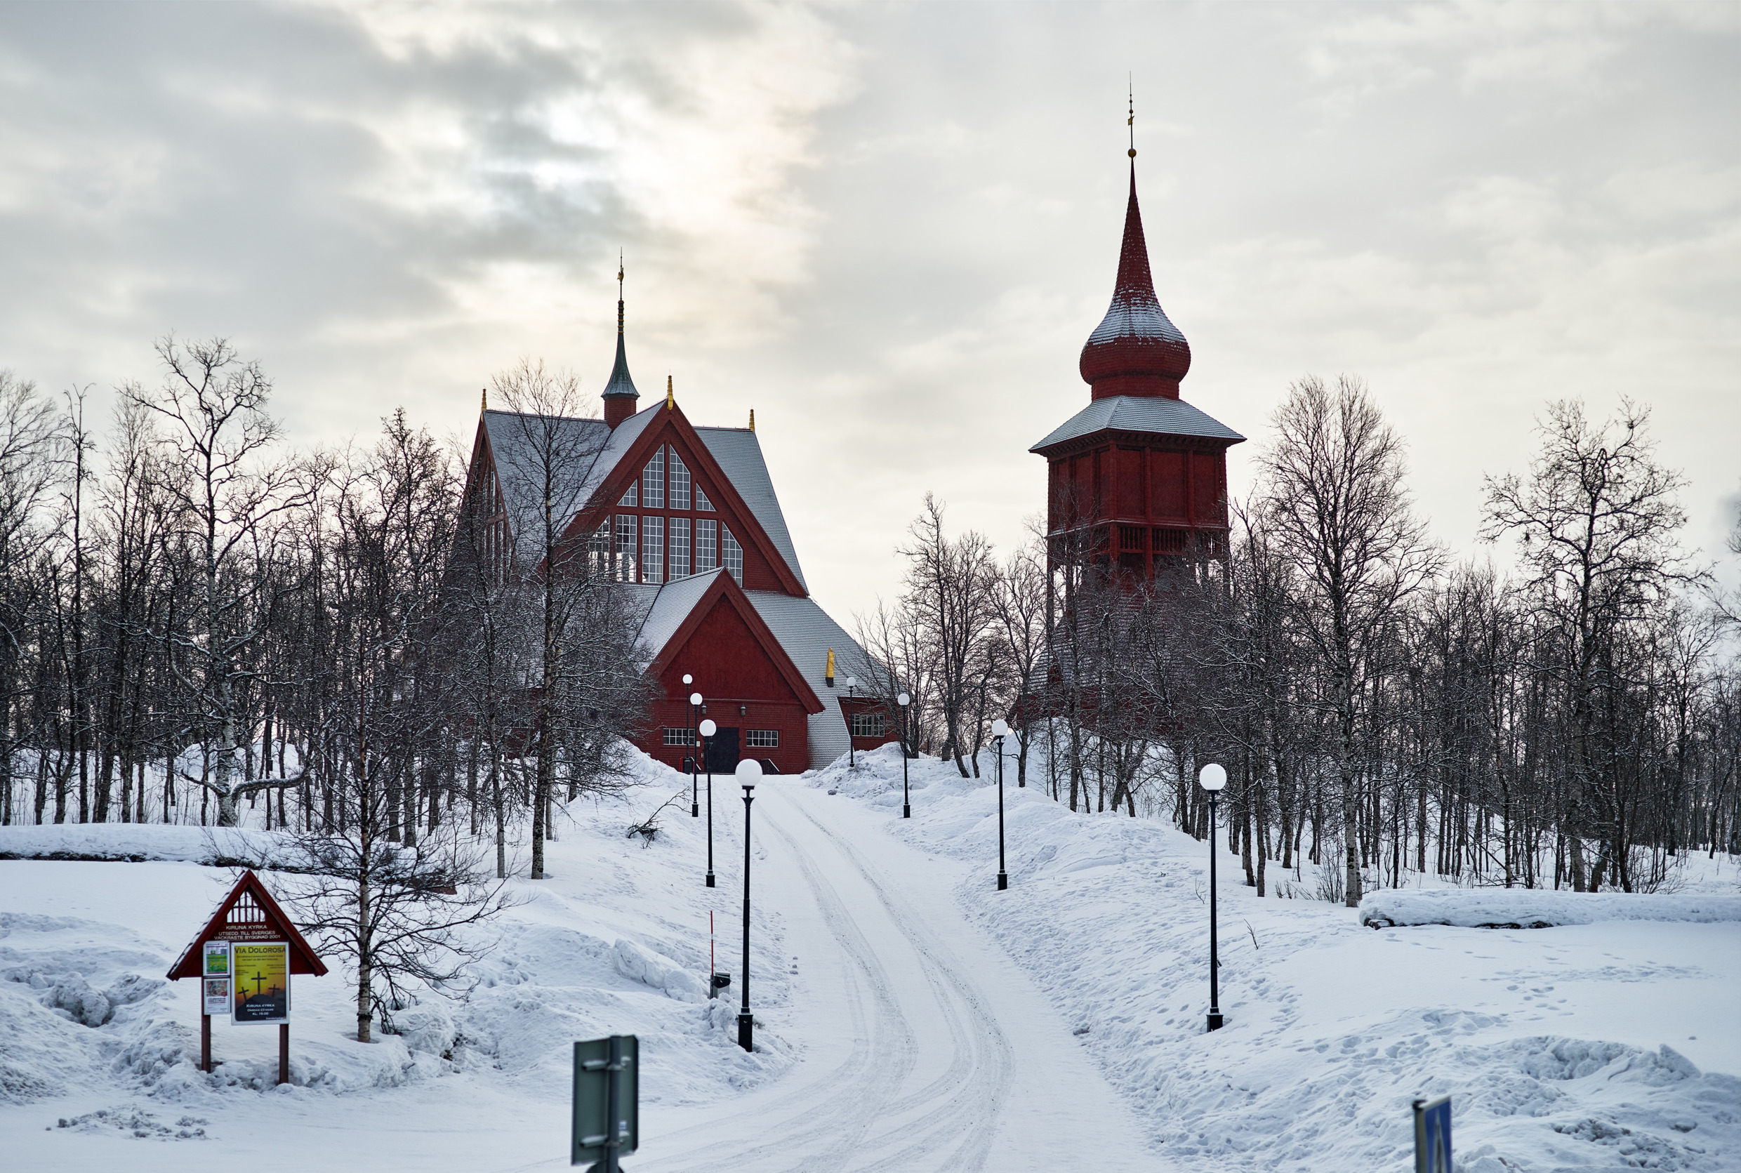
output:
M 858 804 L 768 780 L 752 896 L 794 952 L 778 1023 L 804 1053 L 780 1081 L 705 1109 L 649 1107 L 634 1173 L 1163 1170 L 1137 1121 L 924 856 Z M 994 891 L 987 900 L 1024 900 Z M 752 943 L 754 947 L 754 943 Z M 736 966 L 731 966 L 733 969 Z M 735 992 L 733 992 L 735 994 Z M 750 989 L 756 1006 L 756 989 Z

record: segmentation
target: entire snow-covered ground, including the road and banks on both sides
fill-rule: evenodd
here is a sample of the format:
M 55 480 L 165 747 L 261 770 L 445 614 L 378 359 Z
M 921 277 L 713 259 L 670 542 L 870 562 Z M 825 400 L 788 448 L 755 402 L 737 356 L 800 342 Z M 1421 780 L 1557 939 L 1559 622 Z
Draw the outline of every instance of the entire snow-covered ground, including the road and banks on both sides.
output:
M 611 1032 L 642 1039 L 634 1173 L 1402 1170 L 1408 1100 L 1440 1091 L 1469 1173 L 1741 1168 L 1734 919 L 1372 929 L 1339 905 L 1259 900 L 1224 855 L 1227 1027 L 1205 1034 L 1207 844 L 1012 778 L 999 893 L 991 780 L 912 762 L 907 821 L 886 748 L 761 787 L 745 1055 L 738 987 L 702 994 L 709 910 L 719 968 L 738 969 L 736 787 L 716 783 L 707 889 L 688 804 L 649 846 L 625 837 L 688 785 L 641 773 L 627 802 L 568 811 L 554 877 L 515 882 L 526 903 L 496 924 L 468 1002 L 430 999 L 362 1046 L 345 978 L 298 978 L 289 1088 L 270 1083 L 272 1030 L 219 1023 L 223 1065 L 200 1074 L 193 983 L 162 982 L 233 879 L 202 863 L 242 858 L 228 841 L 0 828 L 0 1168 L 555 1170 L 571 1042 Z M 244 839 L 270 858 L 266 834 Z M 54 851 L 82 860 L 3 858 Z M 84 861 L 104 855 L 146 861 Z M 1654 907 L 1720 912 L 1734 875 L 1718 860 Z M 1469 921 L 1490 889 L 1435 896 L 1438 914 L 1462 900 L 1436 917 L 1402 896 L 1368 907 L 1536 922 Z

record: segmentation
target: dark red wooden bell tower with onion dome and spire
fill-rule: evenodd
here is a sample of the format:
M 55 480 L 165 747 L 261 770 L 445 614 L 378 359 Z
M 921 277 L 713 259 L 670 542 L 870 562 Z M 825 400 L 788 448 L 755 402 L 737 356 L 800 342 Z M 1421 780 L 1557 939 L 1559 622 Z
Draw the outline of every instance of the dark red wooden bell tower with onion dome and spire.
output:
M 1031 447 L 1046 459 L 1053 567 L 1092 564 L 1137 581 L 1227 548 L 1227 449 L 1245 440 L 1179 397 L 1191 345 L 1161 310 L 1137 204 L 1135 108 L 1130 198 L 1112 305 L 1088 334 L 1088 406 Z

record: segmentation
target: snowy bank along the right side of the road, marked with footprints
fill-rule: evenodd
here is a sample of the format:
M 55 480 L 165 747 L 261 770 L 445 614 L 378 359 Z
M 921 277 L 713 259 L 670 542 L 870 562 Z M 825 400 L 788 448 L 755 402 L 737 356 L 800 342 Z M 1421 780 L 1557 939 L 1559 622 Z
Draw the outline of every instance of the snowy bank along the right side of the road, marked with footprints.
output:
M 1367 931 L 1341 905 L 1259 898 L 1240 858 L 1222 853 L 1227 1025 L 1208 1034 L 1210 844 L 1149 820 L 1072 813 L 1038 785 L 1017 788 L 1006 766 L 1010 891 L 999 893 L 994 759 L 978 780 L 935 759 L 909 773 L 911 820 L 893 747 L 806 781 L 970 865 L 961 908 L 1067 1016 L 1144 1119 L 1158 1168 L 1408 1168 L 1408 1103 L 1440 1093 L 1452 1095 L 1459 1173 L 1741 1168 L 1741 933 L 1732 914 L 1717 919 L 1732 896 L 1567 895 L 1555 914 L 1596 902 L 1588 908 L 1637 905 L 1652 919 L 1539 933 Z M 1490 895 L 1452 889 L 1436 907 Z M 1680 919 L 1666 921 L 1671 908 Z M 1513 921 L 1523 922 L 1494 917 Z

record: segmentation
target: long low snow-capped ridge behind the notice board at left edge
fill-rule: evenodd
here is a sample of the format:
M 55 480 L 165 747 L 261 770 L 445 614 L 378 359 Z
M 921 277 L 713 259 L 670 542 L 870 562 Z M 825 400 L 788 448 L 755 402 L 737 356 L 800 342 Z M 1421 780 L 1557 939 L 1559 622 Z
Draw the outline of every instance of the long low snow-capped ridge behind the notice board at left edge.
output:
M 204 863 L 270 868 L 286 855 L 270 830 L 160 823 L 44 823 L 0 827 L 0 860 Z

